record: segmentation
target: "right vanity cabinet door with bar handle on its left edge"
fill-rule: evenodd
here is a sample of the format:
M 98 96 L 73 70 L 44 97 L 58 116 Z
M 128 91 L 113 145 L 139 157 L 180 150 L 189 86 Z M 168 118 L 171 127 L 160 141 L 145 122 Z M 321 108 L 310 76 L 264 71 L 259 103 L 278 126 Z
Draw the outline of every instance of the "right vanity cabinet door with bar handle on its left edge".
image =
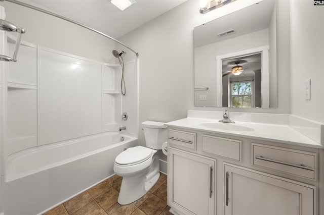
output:
M 224 165 L 226 215 L 311 215 L 316 214 L 314 202 L 314 186 Z

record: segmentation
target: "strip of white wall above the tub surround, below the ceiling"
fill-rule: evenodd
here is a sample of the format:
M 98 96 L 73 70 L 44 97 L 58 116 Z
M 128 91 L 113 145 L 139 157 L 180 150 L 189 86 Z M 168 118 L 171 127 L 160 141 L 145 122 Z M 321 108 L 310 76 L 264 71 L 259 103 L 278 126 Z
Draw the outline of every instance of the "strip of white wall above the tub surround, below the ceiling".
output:
M 114 61 L 111 50 L 115 43 L 112 40 L 13 3 L 5 1 L 0 5 L 5 7 L 6 20 L 26 30 L 23 40 L 100 62 Z

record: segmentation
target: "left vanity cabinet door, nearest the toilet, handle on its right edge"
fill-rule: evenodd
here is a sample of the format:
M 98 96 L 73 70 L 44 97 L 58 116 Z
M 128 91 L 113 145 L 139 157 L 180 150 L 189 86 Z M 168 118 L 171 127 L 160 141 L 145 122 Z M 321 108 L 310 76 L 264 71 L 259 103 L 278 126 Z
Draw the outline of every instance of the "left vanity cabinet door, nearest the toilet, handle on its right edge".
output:
M 215 159 L 169 148 L 169 206 L 184 214 L 215 214 L 215 166 Z

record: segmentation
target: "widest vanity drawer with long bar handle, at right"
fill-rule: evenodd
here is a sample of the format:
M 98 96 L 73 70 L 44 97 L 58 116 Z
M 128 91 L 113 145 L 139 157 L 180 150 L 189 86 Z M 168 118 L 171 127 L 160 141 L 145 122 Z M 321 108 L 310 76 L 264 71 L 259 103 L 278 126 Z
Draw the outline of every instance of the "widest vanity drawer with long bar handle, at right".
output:
M 252 143 L 252 164 L 316 180 L 317 154 Z

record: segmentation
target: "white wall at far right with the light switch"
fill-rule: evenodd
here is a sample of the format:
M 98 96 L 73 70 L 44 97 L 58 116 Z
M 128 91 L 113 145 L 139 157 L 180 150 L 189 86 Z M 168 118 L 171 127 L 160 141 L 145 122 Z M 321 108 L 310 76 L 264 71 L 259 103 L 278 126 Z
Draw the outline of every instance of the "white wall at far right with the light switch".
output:
M 324 7 L 291 1 L 291 113 L 324 123 Z M 304 80 L 311 78 L 311 100 Z

